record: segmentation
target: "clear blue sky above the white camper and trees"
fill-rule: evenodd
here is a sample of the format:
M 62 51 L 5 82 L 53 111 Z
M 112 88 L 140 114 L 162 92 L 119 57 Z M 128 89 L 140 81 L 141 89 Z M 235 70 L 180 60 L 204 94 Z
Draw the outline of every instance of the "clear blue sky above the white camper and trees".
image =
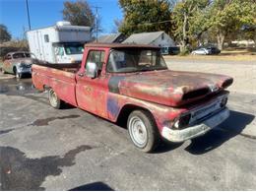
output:
M 28 0 L 33 29 L 55 25 L 62 21 L 61 11 L 65 0 Z M 75 1 L 75 0 L 72 0 Z M 118 0 L 87 0 L 91 6 L 98 6 L 101 18 L 101 34 L 110 33 L 114 29 L 113 21 L 122 19 L 122 11 Z M 95 12 L 96 10 L 93 9 Z M 26 0 L 0 0 L 0 24 L 4 24 L 13 38 L 23 38 L 29 30 Z

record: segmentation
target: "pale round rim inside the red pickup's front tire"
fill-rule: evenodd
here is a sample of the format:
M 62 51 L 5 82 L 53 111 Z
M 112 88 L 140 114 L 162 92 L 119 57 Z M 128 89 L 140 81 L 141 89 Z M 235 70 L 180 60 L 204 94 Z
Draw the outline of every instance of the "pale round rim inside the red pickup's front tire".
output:
M 148 133 L 144 122 L 138 117 L 134 116 L 129 122 L 129 132 L 133 142 L 143 148 L 147 144 Z

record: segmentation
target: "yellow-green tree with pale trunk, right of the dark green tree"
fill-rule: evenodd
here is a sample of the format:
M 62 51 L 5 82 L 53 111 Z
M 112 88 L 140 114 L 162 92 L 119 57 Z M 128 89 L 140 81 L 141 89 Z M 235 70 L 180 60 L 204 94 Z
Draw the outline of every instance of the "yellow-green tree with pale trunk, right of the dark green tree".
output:
M 174 7 L 174 36 L 180 40 L 182 52 L 187 50 L 192 38 L 198 38 L 208 30 L 207 18 L 204 17 L 208 5 L 208 0 L 181 0 Z

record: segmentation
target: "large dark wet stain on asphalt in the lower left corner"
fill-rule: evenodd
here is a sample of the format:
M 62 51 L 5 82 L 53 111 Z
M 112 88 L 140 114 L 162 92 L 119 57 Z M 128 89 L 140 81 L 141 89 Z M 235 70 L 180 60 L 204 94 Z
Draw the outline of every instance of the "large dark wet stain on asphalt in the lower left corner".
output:
M 41 183 L 48 175 L 59 175 L 61 167 L 75 164 L 77 154 L 95 147 L 83 145 L 63 157 L 49 156 L 29 159 L 25 153 L 11 147 L 0 147 L 0 190 L 44 190 Z

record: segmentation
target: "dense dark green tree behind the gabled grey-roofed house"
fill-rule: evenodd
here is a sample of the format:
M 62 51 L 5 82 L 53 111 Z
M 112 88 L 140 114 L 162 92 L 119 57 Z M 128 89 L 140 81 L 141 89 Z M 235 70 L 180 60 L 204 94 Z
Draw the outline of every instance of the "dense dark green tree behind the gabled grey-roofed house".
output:
M 119 32 L 171 33 L 171 3 L 168 0 L 119 0 L 124 19 Z

